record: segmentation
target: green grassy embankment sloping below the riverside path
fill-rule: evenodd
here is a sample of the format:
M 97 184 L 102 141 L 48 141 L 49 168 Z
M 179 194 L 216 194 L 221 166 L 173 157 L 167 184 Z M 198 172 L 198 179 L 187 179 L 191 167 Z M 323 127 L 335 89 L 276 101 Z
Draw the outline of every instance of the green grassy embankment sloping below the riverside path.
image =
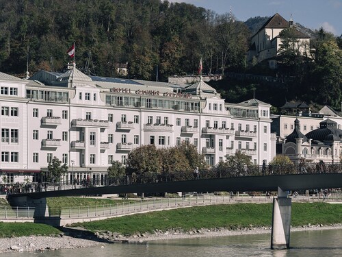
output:
M 53 202 L 52 202 L 53 201 Z M 122 202 L 122 200 L 119 200 Z M 111 199 L 90 198 L 55 198 L 49 199 L 50 206 L 86 206 L 100 204 L 114 204 Z M 117 217 L 104 221 L 76 223 L 91 231 L 111 231 L 124 235 L 135 232 L 152 232 L 153 230 L 168 230 L 182 228 L 192 230 L 199 228 L 244 228 L 269 226 L 272 220 L 272 204 L 232 204 L 218 206 L 198 206 L 164 210 L 145 214 Z M 342 223 L 342 204 L 292 204 L 291 225 L 299 226 L 311 224 L 330 225 Z M 0 223 L 0 237 L 25 235 L 51 235 L 60 231 L 48 225 L 36 223 Z

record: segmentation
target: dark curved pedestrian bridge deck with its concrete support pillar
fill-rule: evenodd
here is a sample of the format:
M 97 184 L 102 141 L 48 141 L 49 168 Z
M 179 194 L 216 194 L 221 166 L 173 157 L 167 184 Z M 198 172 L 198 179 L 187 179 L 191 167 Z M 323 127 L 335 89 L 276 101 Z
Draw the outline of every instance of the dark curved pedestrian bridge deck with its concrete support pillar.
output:
M 81 195 L 107 195 L 122 193 L 162 193 L 162 192 L 213 192 L 213 191 L 277 191 L 274 199 L 272 218 L 272 249 L 289 248 L 291 223 L 291 198 L 287 191 L 306 189 L 341 188 L 342 173 L 312 173 L 291 175 L 257 175 L 235 178 L 214 178 L 207 180 L 186 180 L 177 182 L 156 182 L 149 184 L 127 184 L 12 194 L 8 196 L 12 206 L 39 207 L 35 217 L 44 217 L 47 197 L 66 197 Z

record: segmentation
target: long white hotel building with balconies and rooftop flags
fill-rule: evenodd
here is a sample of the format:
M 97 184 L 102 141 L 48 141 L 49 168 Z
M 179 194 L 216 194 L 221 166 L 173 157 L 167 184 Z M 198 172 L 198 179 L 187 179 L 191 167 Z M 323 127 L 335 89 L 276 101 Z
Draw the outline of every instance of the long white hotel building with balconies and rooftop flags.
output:
M 29 80 L 0 73 L 0 184 L 38 180 L 53 157 L 97 183 L 113 160 L 141 145 L 196 145 L 209 167 L 237 150 L 254 164 L 276 154 L 270 105 L 225 103 L 214 88 L 40 71 Z

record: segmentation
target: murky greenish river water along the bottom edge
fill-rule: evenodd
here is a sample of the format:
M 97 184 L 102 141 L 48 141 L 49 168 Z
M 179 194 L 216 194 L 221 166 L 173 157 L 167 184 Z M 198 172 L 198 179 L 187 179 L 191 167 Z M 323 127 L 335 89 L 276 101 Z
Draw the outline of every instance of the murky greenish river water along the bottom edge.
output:
M 44 253 L 0 254 L 10 257 L 95 257 L 95 256 L 144 256 L 144 257 L 198 257 L 198 256 L 342 256 L 342 230 L 315 230 L 291 232 L 291 248 L 271 250 L 270 234 L 220 236 L 210 238 L 182 238 L 148 243 L 111 244 L 105 247 L 62 249 Z

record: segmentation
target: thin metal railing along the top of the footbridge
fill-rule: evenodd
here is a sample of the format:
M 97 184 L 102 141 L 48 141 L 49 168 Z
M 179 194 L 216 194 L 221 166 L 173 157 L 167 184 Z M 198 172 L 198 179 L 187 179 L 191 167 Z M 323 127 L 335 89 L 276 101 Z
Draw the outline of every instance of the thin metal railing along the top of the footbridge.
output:
M 127 184 L 146 184 L 175 182 L 184 180 L 207 180 L 215 178 L 235 178 L 241 176 L 253 175 L 287 175 L 287 174 L 305 174 L 305 173 L 341 173 L 341 163 L 317 164 L 278 164 L 278 165 L 235 165 L 234 167 L 215 167 L 212 169 L 202 169 L 199 173 L 192 171 L 172 171 L 160 173 L 130 173 L 118 178 L 103 178 L 100 180 L 77 180 L 70 184 L 66 182 L 42 182 L 28 184 L 14 184 L 8 186 L 8 193 L 31 193 L 42 191 L 68 190 L 75 188 L 88 188 L 97 186 L 119 186 Z

